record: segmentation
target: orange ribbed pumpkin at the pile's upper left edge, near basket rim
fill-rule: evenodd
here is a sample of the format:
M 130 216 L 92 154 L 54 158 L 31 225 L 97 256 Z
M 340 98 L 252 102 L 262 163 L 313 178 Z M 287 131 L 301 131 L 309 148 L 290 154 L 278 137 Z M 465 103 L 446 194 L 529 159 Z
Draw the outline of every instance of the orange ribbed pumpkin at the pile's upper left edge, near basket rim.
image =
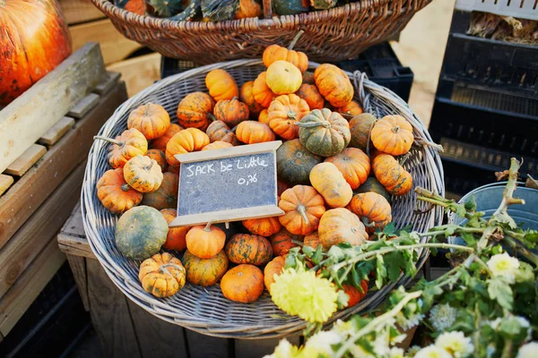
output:
M 170 116 L 161 105 L 148 103 L 134 109 L 127 118 L 127 128 L 135 128 L 147 140 L 163 136 L 170 126 Z

